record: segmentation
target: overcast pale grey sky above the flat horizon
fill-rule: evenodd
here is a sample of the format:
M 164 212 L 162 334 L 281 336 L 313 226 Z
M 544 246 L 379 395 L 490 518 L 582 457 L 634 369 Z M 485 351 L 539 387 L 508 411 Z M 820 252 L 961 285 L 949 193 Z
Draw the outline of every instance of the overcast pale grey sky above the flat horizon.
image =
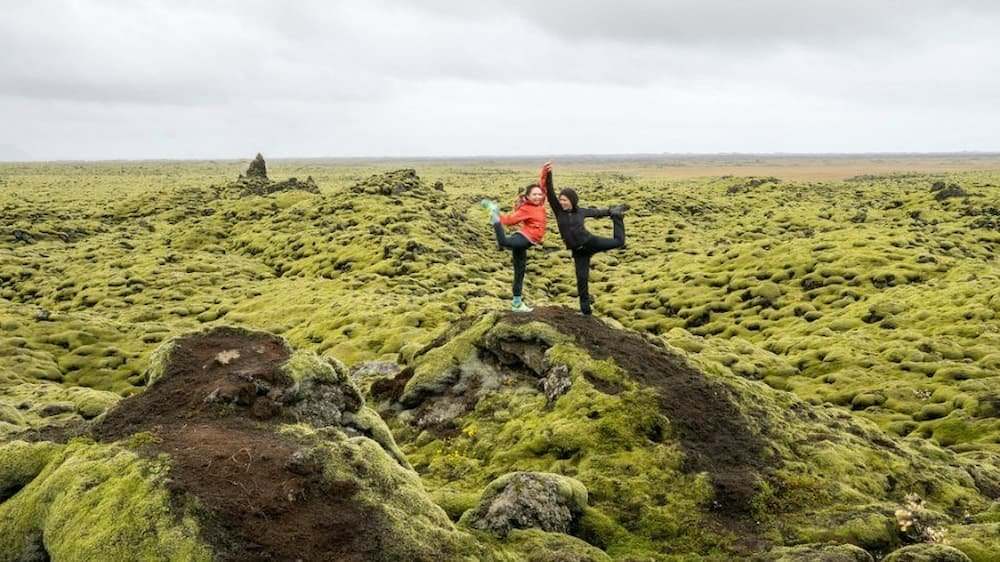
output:
M 0 0 L 0 160 L 1000 150 L 991 0 Z

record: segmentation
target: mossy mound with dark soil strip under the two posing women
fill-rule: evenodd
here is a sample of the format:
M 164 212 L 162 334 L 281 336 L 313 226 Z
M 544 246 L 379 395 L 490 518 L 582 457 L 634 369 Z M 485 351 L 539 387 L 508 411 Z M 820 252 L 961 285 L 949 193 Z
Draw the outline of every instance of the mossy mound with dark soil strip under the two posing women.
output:
M 557 371 L 567 388 L 548 395 Z M 937 510 L 934 525 L 956 525 L 991 504 L 972 474 L 1000 468 L 565 309 L 459 322 L 371 395 L 453 517 L 495 475 L 563 475 L 589 492 L 572 534 L 612 558 L 823 542 L 874 556 L 910 540 L 895 515 L 909 494 Z M 463 524 L 489 506 L 477 509 Z

